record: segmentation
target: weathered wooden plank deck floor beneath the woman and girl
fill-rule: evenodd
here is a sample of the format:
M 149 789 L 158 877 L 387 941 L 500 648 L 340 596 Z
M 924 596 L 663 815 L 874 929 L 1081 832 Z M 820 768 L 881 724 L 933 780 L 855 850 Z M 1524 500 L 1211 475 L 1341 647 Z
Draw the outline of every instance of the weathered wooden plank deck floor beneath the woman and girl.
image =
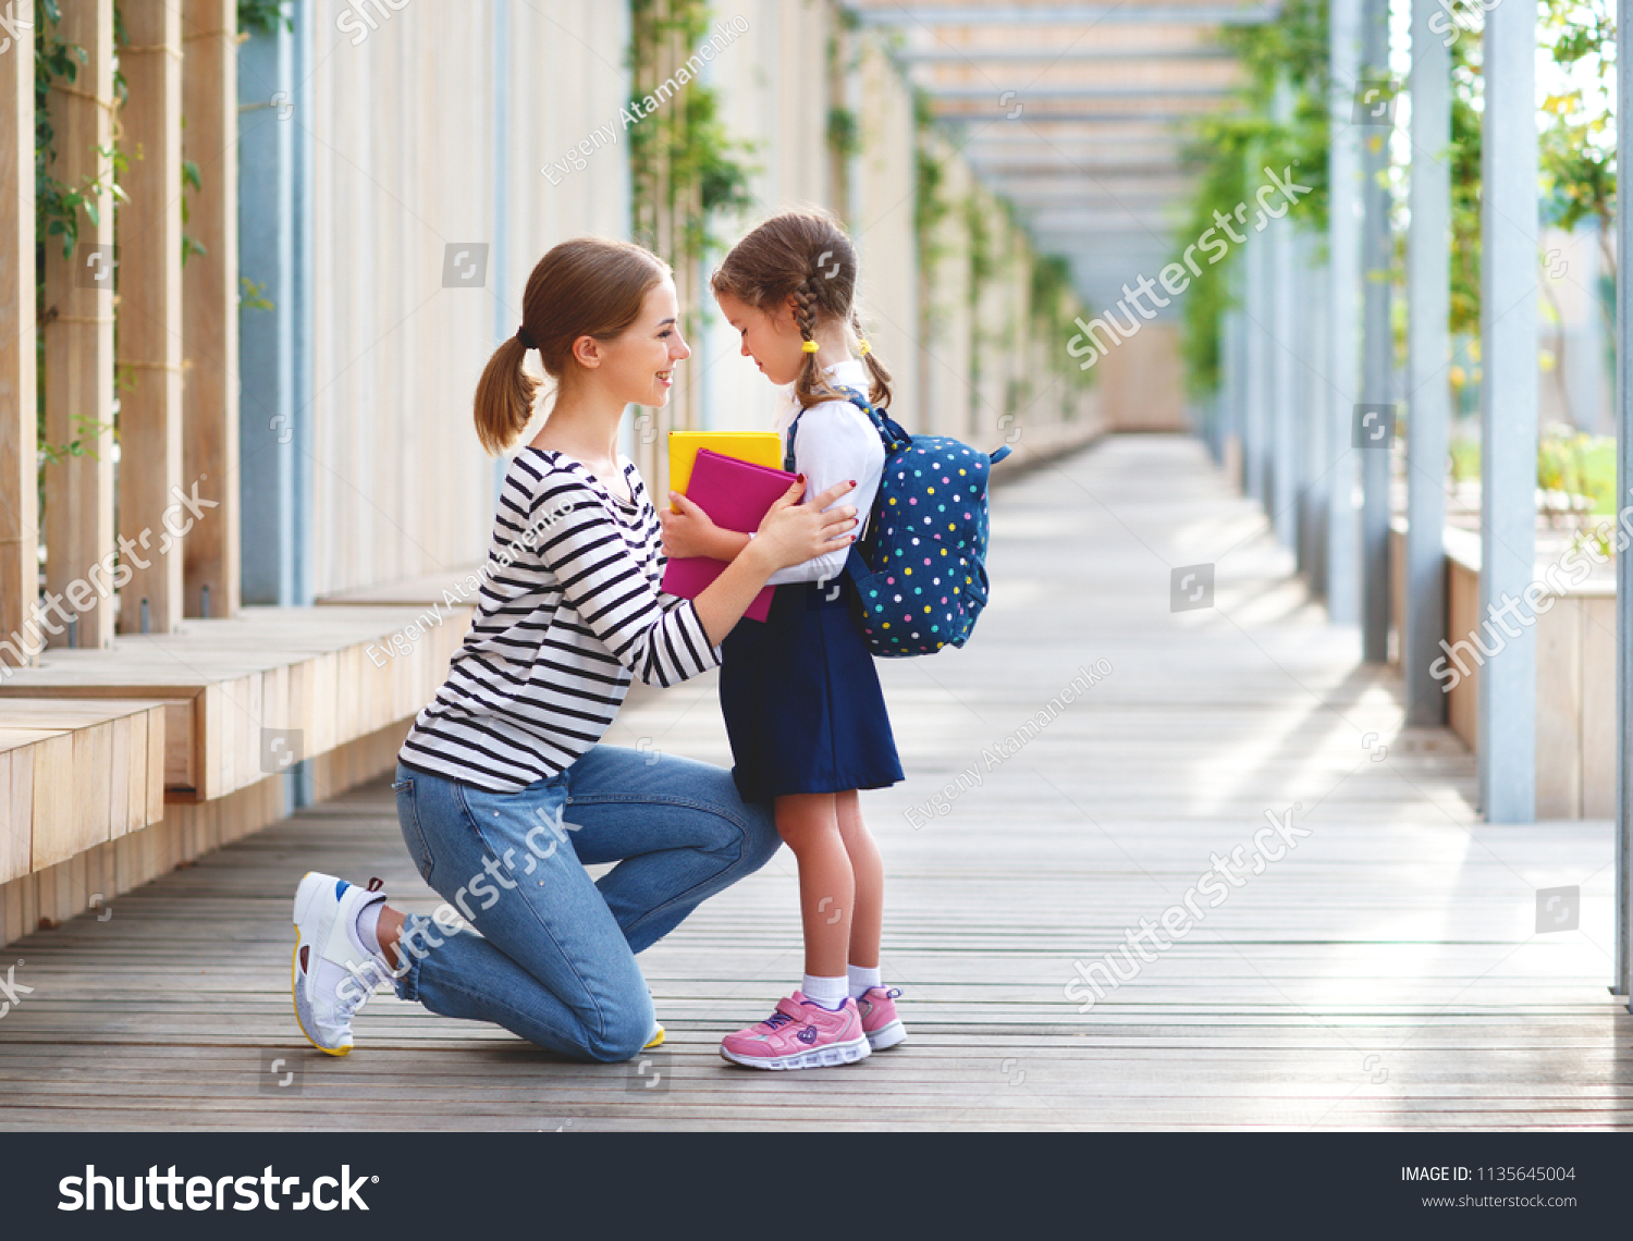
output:
M 1253 506 L 1184 439 L 1124 438 L 1001 490 L 972 647 L 883 666 L 908 782 L 865 797 L 885 967 L 911 1042 L 862 1065 L 733 1070 L 719 1037 L 799 978 L 792 859 L 642 962 L 670 1043 L 558 1061 L 379 996 L 346 1060 L 302 1052 L 289 900 L 307 869 L 433 908 L 384 782 L 13 944 L 3 1128 L 1373 1128 L 1633 1123 L 1607 823 L 1488 828 L 1473 763 L 1406 730 Z M 1217 607 L 1169 611 L 1217 562 Z M 1109 673 L 1017 753 L 1076 674 Z M 710 683 L 642 696 L 611 738 L 727 758 Z M 910 815 L 944 785 L 963 792 Z M 1158 921 L 1293 810 L 1297 851 L 1081 1014 L 1073 962 Z M 914 826 L 919 821 L 919 826 Z M 1538 888 L 1581 929 L 1537 934 Z M 108 913 L 108 911 L 103 911 Z M 1119 957 L 1119 963 L 1120 963 Z M 1127 972 L 1127 970 L 1125 970 Z M 287 1088 L 265 1071 L 284 1058 Z M 656 1086 L 647 1083 L 656 1081 Z

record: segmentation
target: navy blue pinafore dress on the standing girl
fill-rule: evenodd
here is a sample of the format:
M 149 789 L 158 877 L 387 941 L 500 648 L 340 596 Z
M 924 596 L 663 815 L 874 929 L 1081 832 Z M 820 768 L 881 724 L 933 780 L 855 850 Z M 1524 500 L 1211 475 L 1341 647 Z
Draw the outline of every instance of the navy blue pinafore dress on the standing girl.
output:
M 852 560 L 861 560 L 851 547 Z M 903 779 L 874 656 L 851 616 L 849 573 L 776 588 L 764 624 L 720 643 L 720 710 L 746 802 L 885 789 Z

